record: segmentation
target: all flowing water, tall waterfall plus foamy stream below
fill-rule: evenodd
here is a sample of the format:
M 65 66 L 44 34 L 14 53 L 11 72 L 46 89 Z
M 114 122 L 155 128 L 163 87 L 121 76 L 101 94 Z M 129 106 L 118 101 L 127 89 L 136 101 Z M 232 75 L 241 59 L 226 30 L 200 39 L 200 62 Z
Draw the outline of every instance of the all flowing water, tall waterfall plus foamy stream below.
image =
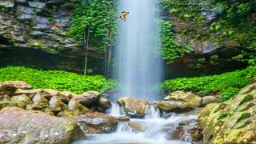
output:
M 128 11 L 126 22 L 120 20 L 118 46 L 116 50 L 117 78 L 122 90 L 114 96 L 129 96 L 148 101 L 160 99 L 158 88 L 161 82 L 162 61 L 158 41 L 157 5 L 155 0 L 121 0 L 120 14 Z M 116 100 L 116 99 L 115 99 Z M 75 144 L 183 144 L 171 140 L 179 122 L 196 119 L 197 115 L 172 114 L 161 118 L 160 112 L 150 106 L 145 118 L 131 118 L 119 122 L 111 134 L 89 134 L 86 140 Z M 112 105 L 110 115 L 124 115 L 117 104 Z

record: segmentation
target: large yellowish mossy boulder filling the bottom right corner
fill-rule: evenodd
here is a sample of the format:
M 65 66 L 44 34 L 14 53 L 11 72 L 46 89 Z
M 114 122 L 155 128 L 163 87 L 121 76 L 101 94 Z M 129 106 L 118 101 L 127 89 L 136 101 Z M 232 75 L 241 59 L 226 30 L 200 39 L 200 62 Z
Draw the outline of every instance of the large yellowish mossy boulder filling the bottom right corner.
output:
M 256 142 L 256 83 L 226 102 L 210 103 L 199 114 L 204 143 Z

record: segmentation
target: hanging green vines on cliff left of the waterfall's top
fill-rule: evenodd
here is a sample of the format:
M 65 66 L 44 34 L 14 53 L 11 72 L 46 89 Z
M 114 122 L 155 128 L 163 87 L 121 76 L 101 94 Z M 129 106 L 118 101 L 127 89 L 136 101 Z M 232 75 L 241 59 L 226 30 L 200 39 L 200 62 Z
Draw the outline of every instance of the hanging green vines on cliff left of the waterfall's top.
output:
M 110 44 L 108 31 L 116 35 L 117 0 L 76 0 L 69 34 L 82 42 L 90 27 L 90 46 L 103 49 Z

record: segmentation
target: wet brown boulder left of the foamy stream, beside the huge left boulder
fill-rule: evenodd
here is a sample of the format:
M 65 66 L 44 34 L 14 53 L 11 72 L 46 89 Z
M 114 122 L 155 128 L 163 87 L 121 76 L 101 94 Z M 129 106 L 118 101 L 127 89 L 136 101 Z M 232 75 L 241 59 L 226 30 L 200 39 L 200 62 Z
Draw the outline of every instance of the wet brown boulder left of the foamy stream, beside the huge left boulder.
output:
M 116 130 L 118 119 L 102 113 L 86 113 L 79 116 L 69 117 L 78 122 L 84 134 L 110 133 Z

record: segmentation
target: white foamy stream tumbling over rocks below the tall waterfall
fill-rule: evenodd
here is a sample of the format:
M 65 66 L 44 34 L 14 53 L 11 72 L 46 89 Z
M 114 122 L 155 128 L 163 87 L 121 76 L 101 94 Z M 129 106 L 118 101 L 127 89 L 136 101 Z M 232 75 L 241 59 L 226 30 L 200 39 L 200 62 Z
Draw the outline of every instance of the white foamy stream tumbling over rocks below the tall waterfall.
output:
M 113 106 L 114 116 L 123 116 L 119 106 Z M 172 114 L 170 118 L 160 118 L 160 113 L 150 106 L 149 113 L 143 119 L 131 118 L 130 122 L 119 122 L 117 130 L 111 134 L 89 134 L 86 140 L 74 144 L 187 144 L 179 140 L 170 140 L 170 135 L 179 122 L 197 119 L 197 115 Z M 119 113 L 118 113 L 119 112 Z

